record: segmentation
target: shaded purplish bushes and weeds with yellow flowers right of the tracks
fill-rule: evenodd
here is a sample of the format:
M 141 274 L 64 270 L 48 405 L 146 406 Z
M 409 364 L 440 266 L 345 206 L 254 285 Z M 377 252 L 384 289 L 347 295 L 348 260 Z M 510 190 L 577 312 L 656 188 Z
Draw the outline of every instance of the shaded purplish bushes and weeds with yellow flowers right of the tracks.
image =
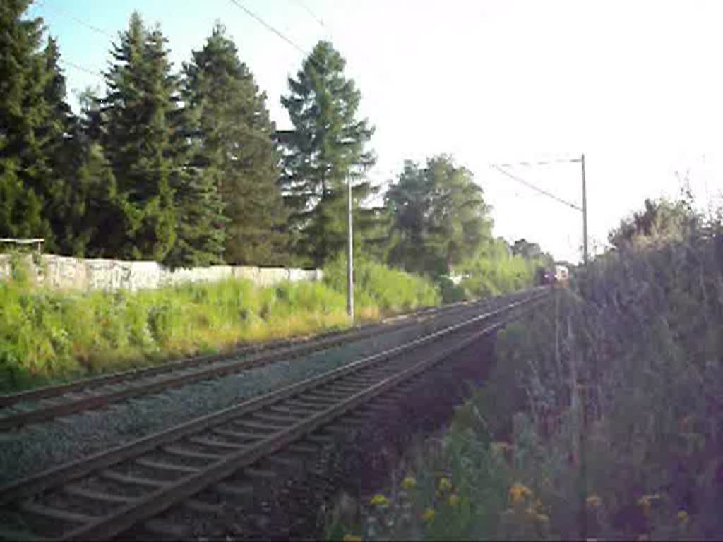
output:
M 443 446 L 348 531 L 720 538 L 723 223 L 686 199 L 646 202 L 611 238 L 547 311 L 500 334 Z

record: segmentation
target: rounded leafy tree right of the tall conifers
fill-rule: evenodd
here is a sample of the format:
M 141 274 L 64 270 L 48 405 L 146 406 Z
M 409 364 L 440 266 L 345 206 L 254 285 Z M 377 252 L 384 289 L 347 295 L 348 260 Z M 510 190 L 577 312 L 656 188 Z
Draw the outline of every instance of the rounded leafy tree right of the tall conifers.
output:
M 445 275 L 490 237 L 482 189 L 445 155 L 430 158 L 424 168 L 406 162 L 386 205 L 394 217 L 390 263 L 411 272 Z

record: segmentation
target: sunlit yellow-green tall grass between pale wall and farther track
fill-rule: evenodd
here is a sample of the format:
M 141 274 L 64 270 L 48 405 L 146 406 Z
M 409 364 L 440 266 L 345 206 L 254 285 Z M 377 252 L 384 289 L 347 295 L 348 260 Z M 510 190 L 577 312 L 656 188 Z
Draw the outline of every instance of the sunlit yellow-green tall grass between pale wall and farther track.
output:
M 0 390 L 346 327 L 346 283 L 335 273 L 324 283 L 266 288 L 226 280 L 77 293 L 35 288 L 17 267 L 0 282 Z M 377 264 L 360 266 L 357 277 L 359 320 L 440 299 L 427 281 Z

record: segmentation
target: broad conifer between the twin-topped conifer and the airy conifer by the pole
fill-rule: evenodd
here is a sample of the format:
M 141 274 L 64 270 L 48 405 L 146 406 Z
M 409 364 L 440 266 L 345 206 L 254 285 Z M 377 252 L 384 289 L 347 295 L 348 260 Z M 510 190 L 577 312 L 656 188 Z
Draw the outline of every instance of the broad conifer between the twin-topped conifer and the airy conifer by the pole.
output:
M 216 25 L 205 46 L 192 53 L 184 72 L 194 126 L 191 160 L 196 186 L 189 188 L 208 201 L 196 208 L 197 224 L 203 225 L 197 233 L 210 246 L 223 243 L 225 237 L 226 262 L 283 264 L 286 216 L 276 185 L 279 158 L 265 93 L 239 60 L 222 25 Z

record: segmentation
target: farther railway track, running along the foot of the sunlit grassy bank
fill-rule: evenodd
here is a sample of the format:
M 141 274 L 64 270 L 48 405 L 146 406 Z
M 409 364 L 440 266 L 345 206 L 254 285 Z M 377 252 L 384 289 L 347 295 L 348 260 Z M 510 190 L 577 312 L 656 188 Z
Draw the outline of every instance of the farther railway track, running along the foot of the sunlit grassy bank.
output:
M 455 317 L 465 311 L 495 304 L 495 301 L 461 302 L 427 308 L 352 330 L 305 337 L 301 340 L 275 341 L 244 347 L 223 355 L 197 356 L 147 369 L 123 371 L 69 384 L 0 395 L 0 431 L 103 408 L 133 397 L 152 395 L 185 384 L 224 377 L 282 359 L 308 356 L 320 350 L 414 327 L 430 319 Z

